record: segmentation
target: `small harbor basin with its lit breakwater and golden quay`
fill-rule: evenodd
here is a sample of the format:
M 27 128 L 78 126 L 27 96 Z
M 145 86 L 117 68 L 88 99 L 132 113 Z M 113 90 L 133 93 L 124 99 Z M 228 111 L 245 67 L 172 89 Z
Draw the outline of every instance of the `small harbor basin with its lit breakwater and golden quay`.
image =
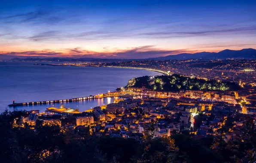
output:
M 79 109 L 79 112 L 88 112 L 96 106 L 106 106 L 110 103 L 115 103 L 122 98 L 133 98 L 135 94 L 127 91 L 108 91 L 105 94 L 98 94 L 88 97 L 77 97 L 72 99 L 62 99 L 62 100 L 47 100 L 47 101 L 35 101 L 35 102 L 23 102 L 15 103 L 9 105 L 9 108 L 14 110 L 39 110 L 40 112 L 55 112 L 55 113 L 71 113 L 73 110 L 61 110 L 62 104 L 65 108 Z M 55 108 L 55 109 L 54 109 Z

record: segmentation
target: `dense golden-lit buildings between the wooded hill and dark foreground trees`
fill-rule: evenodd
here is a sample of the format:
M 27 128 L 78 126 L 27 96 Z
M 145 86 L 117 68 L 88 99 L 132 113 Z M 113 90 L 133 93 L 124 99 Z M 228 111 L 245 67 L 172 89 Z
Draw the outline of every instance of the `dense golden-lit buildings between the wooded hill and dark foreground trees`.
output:
M 173 132 L 180 133 L 184 130 L 195 136 L 218 135 L 222 134 L 221 129 L 227 118 L 244 117 L 245 119 L 232 122 L 232 127 L 225 132 L 224 136 L 228 140 L 230 134 L 234 136 L 234 130 L 240 131 L 246 117 L 253 118 L 254 121 L 256 118 L 255 96 L 238 97 L 238 92 L 131 90 L 150 96 L 142 99 L 119 99 L 105 106 L 105 109 L 98 106 L 92 112 L 80 115 L 31 113 L 23 118 L 23 123 L 29 126 L 58 125 L 68 129 L 70 124 L 73 124 L 72 129 L 90 126 L 98 136 L 107 133 L 125 138 L 142 138 L 145 128 L 152 124 L 154 132 L 151 134 L 154 137 L 171 136 Z M 241 105 L 237 103 L 239 99 L 246 102 Z

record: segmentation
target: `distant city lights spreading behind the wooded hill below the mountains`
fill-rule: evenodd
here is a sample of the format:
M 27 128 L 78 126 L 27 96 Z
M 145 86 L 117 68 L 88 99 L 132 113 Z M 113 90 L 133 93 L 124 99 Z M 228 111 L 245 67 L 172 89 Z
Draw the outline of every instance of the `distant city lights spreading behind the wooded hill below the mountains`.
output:
M 189 77 L 208 78 L 216 80 L 227 80 L 232 82 L 256 83 L 256 60 L 255 59 L 189 59 L 189 60 L 134 60 L 119 61 L 113 63 L 102 62 L 78 62 L 61 63 L 50 65 L 64 66 L 106 66 L 157 69 Z

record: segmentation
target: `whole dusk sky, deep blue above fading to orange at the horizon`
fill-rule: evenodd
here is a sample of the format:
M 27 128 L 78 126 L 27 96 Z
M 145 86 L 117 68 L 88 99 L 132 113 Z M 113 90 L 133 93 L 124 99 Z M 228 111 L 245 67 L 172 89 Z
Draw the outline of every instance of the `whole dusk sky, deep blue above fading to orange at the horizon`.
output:
M 0 0 L 0 59 L 256 48 L 256 0 Z

